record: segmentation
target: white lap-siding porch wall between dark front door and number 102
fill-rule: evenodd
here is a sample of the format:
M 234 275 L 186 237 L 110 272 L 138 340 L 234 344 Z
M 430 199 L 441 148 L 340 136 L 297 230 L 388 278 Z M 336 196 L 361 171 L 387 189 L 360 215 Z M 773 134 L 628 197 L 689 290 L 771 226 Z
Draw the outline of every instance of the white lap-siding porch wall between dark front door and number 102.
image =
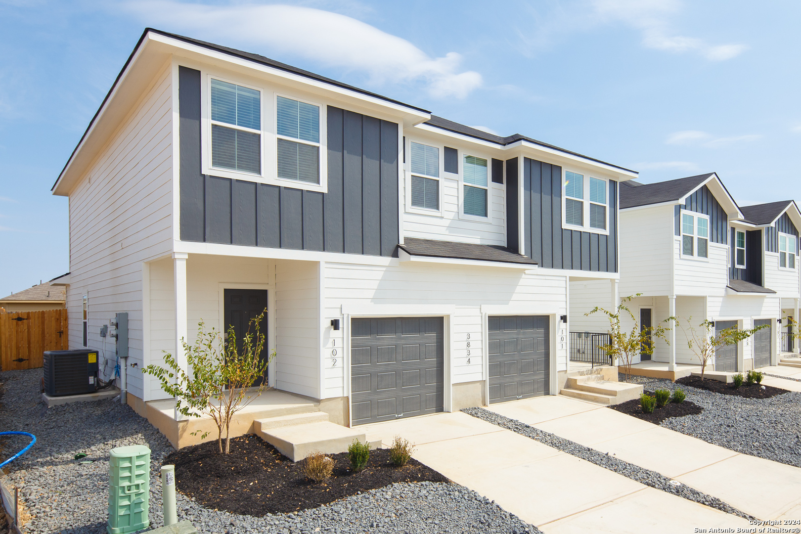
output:
M 276 263 L 276 388 L 320 398 L 316 262 Z

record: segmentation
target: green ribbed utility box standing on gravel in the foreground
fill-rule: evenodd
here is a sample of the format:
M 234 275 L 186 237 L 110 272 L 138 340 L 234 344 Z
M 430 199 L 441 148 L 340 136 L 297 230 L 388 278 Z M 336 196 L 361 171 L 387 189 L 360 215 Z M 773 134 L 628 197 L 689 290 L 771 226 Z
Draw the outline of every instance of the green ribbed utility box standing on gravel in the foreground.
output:
M 113 448 L 108 465 L 108 534 L 147 528 L 150 449 L 144 445 Z

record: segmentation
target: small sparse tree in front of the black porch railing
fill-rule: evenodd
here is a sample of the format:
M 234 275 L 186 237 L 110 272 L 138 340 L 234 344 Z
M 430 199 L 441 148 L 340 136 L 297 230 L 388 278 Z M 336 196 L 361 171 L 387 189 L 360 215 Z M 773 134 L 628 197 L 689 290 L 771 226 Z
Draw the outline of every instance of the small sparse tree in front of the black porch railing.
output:
M 673 317 L 668 317 L 662 321 L 662 324 L 658 324 L 655 327 L 641 328 L 637 318 L 634 317 L 634 314 L 626 306 L 626 303 L 629 303 L 634 297 L 640 295 L 642 295 L 642 293 L 623 297 L 620 299 L 620 303 L 614 311 L 596 306 L 584 314 L 592 315 L 600 312 L 609 319 L 610 342 L 602 345 L 600 348 L 602 351 L 606 351 L 607 355 L 612 356 L 613 359 L 620 359 L 623 362 L 623 369 L 626 372 L 626 382 L 631 381 L 631 365 L 634 363 L 634 355 L 639 353 L 653 354 L 655 338 L 663 339 L 665 343 L 670 344 L 666 337 L 666 332 L 670 331 L 670 328 L 666 327 L 665 323 L 674 319 Z M 631 318 L 632 323 L 634 323 L 631 330 L 627 331 L 623 329 L 621 325 L 622 317 Z

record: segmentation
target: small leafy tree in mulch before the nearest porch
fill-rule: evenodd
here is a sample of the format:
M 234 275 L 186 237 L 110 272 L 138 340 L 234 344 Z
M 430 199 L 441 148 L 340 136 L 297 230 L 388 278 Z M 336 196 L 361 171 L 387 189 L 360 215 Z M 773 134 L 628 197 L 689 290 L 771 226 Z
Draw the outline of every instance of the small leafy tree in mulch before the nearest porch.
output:
M 261 358 L 264 350 L 264 334 L 260 331 L 262 319 L 264 313 L 251 319 L 241 350 L 236 347 L 233 326 L 228 327 L 223 338 L 222 331 L 213 327 L 207 331 L 200 321 L 193 345 L 181 339 L 187 355 L 188 372 L 169 353 L 164 355 L 167 367 L 148 365 L 142 370 L 159 379 L 162 389 L 175 397 L 175 408 L 183 416 L 205 415 L 214 420 L 219 452 L 223 452 L 225 430 L 225 454 L 231 450 L 231 420 L 236 412 L 251 404 L 267 388 L 267 384 L 262 382 L 256 389 L 248 389 L 266 375 L 268 363 L 276 356 L 276 351 L 272 351 L 268 359 Z M 201 437 L 206 436 L 208 432 Z

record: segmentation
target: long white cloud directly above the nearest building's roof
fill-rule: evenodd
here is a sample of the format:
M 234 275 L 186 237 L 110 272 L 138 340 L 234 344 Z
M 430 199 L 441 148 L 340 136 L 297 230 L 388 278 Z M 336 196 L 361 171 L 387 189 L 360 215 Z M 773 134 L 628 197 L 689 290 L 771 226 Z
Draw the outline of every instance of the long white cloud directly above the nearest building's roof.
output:
M 245 45 L 262 54 L 298 54 L 326 66 L 360 70 L 373 84 L 423 82 L 437 98 L 465 98 L 483 83 L 481 74 L 460 69 L 461 54 L 431 58 L 403 38 L 330 11 L 175 0 L 125 2 L 123 9 L 149 26 L 223 45 Z

